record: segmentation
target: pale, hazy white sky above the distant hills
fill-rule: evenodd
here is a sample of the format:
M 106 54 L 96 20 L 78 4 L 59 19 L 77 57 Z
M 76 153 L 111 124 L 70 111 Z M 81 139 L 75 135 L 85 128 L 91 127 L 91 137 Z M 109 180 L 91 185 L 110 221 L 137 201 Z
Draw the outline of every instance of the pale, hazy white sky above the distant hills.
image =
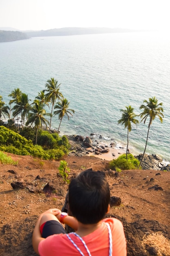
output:
M 170 30 L 170 0 L 0 0 L 0 27 Z

